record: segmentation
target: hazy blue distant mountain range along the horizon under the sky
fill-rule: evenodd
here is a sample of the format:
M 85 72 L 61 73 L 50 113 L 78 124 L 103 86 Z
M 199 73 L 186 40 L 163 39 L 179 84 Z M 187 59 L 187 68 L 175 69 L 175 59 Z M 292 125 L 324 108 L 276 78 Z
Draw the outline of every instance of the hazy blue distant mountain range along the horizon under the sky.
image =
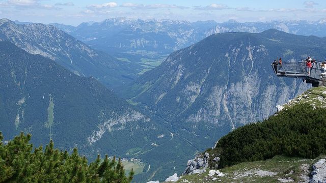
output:
M 188 22 L 182 20 L 133 20 L 124 17 L 87 22 L 76 27 L 52 24 L 91 47 L 110 54 L 170 54 L 216 33 L 260 33 L 274 28 L 286 33 L 325 37 L 326 21 L 270 21 L 240 23 L 230 20 Z

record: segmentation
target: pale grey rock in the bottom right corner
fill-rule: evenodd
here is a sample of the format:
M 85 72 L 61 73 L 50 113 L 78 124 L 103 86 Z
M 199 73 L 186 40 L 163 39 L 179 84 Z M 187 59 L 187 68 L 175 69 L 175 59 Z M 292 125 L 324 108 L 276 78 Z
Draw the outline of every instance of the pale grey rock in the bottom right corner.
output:
M 317 163 L 312 165 L 311 183 L 326 182 L 326 160 L 320 159 Z

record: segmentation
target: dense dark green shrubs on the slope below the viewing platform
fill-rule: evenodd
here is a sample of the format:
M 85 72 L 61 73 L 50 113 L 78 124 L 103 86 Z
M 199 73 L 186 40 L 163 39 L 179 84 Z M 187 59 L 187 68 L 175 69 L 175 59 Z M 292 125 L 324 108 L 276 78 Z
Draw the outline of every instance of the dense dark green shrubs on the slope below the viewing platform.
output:
M 222 137 L 209 154 L 219 167 L 258 161 L 276 155 L 315 158 L 326 153 L 326 109 L 305 103 L 270 116 L 262 123 L 240 127 Z

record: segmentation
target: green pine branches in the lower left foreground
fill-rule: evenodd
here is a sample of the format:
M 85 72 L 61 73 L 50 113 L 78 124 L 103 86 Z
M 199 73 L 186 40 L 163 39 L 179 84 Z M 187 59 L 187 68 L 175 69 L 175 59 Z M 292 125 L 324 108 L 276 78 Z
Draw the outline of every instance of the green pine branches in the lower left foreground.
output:
M 88 165 L 86 157 L 80 157 L 78 150 L 61 151 L 51 140 L 44 151 L 42 145 L 35 148 L 29 143 L 31 135 L 21 133 L 4 145 L 0 132 L 0 182 L 131 182 L 124 174 L 121 159 L 101 162 L 100 156 Z

